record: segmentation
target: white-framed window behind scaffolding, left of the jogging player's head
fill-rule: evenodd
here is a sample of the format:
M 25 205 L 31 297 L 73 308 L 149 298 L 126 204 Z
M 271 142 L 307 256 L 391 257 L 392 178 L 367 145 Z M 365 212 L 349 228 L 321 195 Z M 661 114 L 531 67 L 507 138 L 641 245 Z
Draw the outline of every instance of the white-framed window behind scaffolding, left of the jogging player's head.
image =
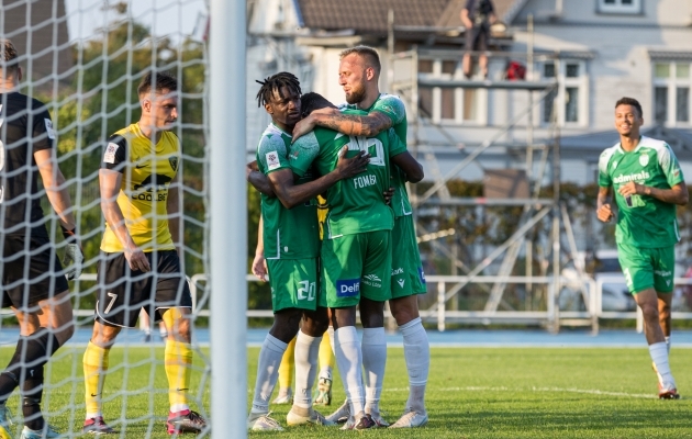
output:
M 540 120 L 545 125 L 587 125 L 589 79 L 582 60 L 549 60 L 538 70 L 544 80 L 558 80 L 558 88 L 546 94 Z

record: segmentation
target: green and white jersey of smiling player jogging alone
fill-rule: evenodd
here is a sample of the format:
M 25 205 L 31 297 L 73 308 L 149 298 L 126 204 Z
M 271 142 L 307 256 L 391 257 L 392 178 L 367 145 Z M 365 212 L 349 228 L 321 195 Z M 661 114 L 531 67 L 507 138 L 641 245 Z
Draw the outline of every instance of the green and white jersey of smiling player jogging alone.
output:
M 670 146 L 661 140 L 641 137 L 633 151 L 620 144 L 607 148 L 599 159 L 599 185 L 613 187 L 617 203 L 615 239 L 639 248 L 660 248 L 680 240 L 676 205 L 654 196 L 623 196 L 617 190 L 634 181 L 658 189 L 670 189 L 684 182 L 680 165 Z

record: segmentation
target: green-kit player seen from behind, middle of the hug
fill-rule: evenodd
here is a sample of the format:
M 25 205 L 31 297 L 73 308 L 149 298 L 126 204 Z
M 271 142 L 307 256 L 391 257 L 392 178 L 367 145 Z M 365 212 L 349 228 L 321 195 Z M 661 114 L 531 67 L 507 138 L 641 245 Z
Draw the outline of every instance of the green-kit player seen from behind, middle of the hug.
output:
M 316 93 L 303 95 L 303 113 L 323 106 L 333 105 Z M 391 299 L 390 230 L 394 225 L 382 193 L 389 188 L 390 160 L 411 176 L 423 178 L 423 170 L 393 130 L 365 137 L 317 127 L 292 145 L 290 166 L 301 176 L 314 160 L 324 175 L 334 168 L 344 145 L 348 154 L 368 151 L 370 161 L 365 173 L 342 180 L 326 193 L 330 212 L 321 252 L 322 286 L 332 311 L 334 350 L 349 407 L 344 428 L 364 429 L 382 426 L 377 403 L 387 360 L 383 306 Z M 355 328 L 356 305 L 360 306 L 362 345 Z M 361 367 L 367 374 L 365 392 Z M 368 402 L 370 412 L 366 412 Z

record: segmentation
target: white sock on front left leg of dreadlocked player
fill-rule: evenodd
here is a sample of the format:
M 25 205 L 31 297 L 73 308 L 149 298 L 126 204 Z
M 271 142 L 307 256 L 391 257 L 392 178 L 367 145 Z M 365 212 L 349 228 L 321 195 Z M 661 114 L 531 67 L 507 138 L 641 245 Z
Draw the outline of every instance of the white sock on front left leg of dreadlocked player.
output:
M 255 397 L 250 414 L 269 413 L 269 398 L 279 379 L 279 364 L 281 364 L 281 358 L 287 347 L 288 344 L 284 344 L 271 334 L 267 334 L 259 351 Z

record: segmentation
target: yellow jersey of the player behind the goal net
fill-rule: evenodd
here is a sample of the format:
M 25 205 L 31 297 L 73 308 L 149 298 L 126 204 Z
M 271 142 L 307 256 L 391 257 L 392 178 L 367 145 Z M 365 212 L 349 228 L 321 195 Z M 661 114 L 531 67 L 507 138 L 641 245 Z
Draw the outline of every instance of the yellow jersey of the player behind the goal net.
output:
M 164 132 L 153 145 L 137 124 L 116 132 L 108 140 L 101 168 L 122 172 L 118 205 L 132 239 L 143 251 L 175 249 L 168 229 L 167 201 L 180 154 L 180 142 L 175 134 Z M 101 250 L 123 251 L 108 222 Z

